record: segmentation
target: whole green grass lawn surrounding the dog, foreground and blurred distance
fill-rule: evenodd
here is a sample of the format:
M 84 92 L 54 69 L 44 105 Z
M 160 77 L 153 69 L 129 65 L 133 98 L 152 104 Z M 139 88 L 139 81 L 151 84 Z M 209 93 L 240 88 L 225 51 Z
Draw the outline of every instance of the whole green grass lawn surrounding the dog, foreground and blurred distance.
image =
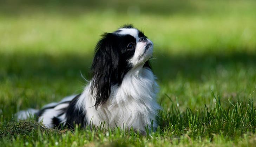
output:
M 2 146 L 255 145 L 254 1 L 111 5 L 113 0 L 91 7 L 8 2 L 0 6 Z M 19 110 L 81 92 L 86 82 L 80 73 L 90 79 L 99 35 L 125 23 L 143 29 L 155 43 L 151 61 L 163 108 L 156 132 L 141 136 L 104 124 L 92 130 L 46 129 L 34 119 L 13 119 Z

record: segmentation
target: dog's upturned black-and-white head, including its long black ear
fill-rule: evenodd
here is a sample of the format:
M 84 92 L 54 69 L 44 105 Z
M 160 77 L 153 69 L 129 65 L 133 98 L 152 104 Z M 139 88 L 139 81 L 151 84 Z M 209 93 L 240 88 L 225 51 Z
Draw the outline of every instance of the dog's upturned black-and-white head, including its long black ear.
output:
M 152 53 L 152 41 L 132 25 L 105 33 L 96 45 L 92 64 L 95 106 L 107 101 L 111 85 L 120 85 L 127 72 L 137 67 L 150 67 L 148 60 Z

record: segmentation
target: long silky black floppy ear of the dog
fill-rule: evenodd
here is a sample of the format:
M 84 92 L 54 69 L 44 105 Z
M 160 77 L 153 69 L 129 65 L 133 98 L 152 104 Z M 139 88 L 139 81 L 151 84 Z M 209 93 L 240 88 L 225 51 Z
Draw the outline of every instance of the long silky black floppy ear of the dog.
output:
M 93 74 L 91 92 L 95 99 L 95 108 L 103 105 L 110 96 L 111 84 L 118 82 L 119 53 L 113 33 L 105 33 L 95 48 L 91 67 Z

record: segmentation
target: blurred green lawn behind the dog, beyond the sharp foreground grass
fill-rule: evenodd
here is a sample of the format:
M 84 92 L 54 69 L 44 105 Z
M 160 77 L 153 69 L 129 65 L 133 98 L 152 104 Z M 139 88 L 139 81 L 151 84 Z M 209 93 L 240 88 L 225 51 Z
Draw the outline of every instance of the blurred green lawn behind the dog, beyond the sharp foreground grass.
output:
M 1 1 L 1 122 L 81 92 L 100 35 L 127 23 L 154 42 L 164 109 L 211 107 L 212 91 L 224 105 L 255 98 L 255 8 L 249 0 Z

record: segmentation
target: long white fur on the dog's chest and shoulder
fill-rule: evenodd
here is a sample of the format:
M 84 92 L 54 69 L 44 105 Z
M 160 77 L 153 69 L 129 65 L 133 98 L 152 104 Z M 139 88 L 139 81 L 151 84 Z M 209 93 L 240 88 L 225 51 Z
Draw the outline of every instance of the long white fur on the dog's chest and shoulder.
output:
M 96 110 L 89 84 L 79 101 L 85 105 L 88 124 L 99 125 L 105 121 L 109 127 L 133 127 L 144 132 L 145 126 L 157 127 L 155 116 L 159 105 L 156 102 L 158 85 L 151 69 L 138 67 L 129 71 L 121 85 L 112 86 L 109 100 Z M 80 103 L 78 102 L 78 103 Z

